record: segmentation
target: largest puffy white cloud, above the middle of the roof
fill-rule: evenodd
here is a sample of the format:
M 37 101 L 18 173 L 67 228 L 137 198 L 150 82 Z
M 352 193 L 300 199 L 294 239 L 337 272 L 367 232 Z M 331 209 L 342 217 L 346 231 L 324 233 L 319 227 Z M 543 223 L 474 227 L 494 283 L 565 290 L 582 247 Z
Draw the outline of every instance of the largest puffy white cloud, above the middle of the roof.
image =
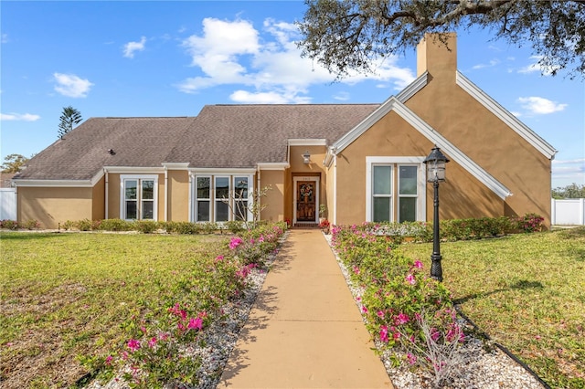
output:
M 202 35 L 188 37 L 182 44 L 199 74 L 184 79 L 176 88 L 196 93 L 217 85 L 233 85 L 238 90 L 230 98 L 237 102 L 304 103 L 311 102 L 306 95 L 312 85 L 335 80 L 319 64 L 301 58 L 295 43 L 300 37 L 297 26 L 269 18 L 262 28 L 261 34 L 249 21 L 204 19 Z M 409 68 L 396 66 L 396 60 L 378 61 L 374 75 L 352 73 L 340 82 L 378 80 L 393 89 L 403 89 L 415 77 Z

